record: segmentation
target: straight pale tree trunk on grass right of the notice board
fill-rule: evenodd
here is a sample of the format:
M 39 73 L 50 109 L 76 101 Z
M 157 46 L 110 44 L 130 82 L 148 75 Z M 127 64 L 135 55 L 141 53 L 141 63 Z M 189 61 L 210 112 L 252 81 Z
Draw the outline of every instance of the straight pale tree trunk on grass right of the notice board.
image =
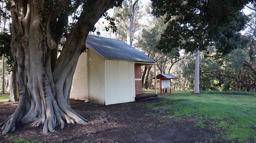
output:
M 199 60 L 200 60 L 200 51 L 196 51 L 194 94 L 200 94 L 200 89 L 199 89 Z

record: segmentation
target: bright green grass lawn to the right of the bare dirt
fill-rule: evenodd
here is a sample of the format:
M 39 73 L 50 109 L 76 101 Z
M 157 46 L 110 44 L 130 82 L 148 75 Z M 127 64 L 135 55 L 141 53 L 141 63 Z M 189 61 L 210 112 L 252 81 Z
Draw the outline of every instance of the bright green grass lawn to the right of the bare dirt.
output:
M 173 96 L 158 96 L 163 99 L 159 102 L 140 105 L 156 110 L 157 116 L 196 118 L 195 127 L 220 131 L 216 136 L 218 141 L 256 142 L 256 96 L 229 95 L 233 92 L 191 93 L 173 92 Z

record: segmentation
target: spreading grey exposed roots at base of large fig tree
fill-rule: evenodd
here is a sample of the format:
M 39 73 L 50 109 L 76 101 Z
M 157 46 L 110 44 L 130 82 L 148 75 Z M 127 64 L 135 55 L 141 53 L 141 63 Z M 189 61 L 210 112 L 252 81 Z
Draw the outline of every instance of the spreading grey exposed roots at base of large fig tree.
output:
M 66 123 L 78 123 L 82 125 L 87 124 L 87 120 L 82 118 L 79 114 L 74 112 L 69 106 L 58 106 L 55 99 L 49 102 L 46 106 L 44 100 L 41 100 L 41 109 L 36 108 L 36 104 L 32 103 L 30 110 L 26 113 L 24 106 L 18 106 L 14 114 L 2 119 L 0 126 L 2 126 L 3 134 L 15 130 L 15 125 L 18 122 L 28 123 L 32 122 L 33 127 L 43 127 L 44 133 L 54 132 L 57 125 L 63 129 Z M 47 107 L 47 108 L 45 108 Z M 62 107 L 62 109 L 60 108 Z M 40 111 L 40 113 L 38 113 Z

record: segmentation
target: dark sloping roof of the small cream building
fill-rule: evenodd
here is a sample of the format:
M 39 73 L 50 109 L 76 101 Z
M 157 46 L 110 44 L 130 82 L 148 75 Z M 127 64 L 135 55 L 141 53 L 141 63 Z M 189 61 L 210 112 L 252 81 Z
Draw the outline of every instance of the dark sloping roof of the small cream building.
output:
M 86 45 L 105 59 L 156 63 L 141 51 L 120 40 L 88 35 Z

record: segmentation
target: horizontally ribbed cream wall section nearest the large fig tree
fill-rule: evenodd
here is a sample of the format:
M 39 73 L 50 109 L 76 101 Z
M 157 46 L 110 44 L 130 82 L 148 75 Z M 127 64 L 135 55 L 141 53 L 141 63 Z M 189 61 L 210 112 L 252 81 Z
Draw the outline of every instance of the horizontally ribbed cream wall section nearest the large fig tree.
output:
M 78 59 L 76 71 L 72 80 L 70 91 L 70 98 L 77 100 L 84 100 L 88 102 L 89 99 L 89 85 L 88 85 L 88 66 L 87 53 L 82 53 Z

